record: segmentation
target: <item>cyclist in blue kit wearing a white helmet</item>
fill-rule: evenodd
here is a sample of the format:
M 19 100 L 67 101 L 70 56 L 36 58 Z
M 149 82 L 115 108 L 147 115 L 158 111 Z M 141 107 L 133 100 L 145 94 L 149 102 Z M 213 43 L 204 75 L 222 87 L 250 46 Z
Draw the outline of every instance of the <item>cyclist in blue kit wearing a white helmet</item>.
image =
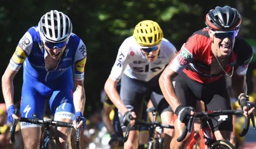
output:
M 83 118 L 86 100 L 83 78 L 86 46 L 72 33 L 72 23 L 65 14 L 52 10 L 43 15 L 38 26 L 30 28 L 16 47 L 4 75 L 2 90 L 8 121 L 18 119 L 14 112 L 13 78 L 23 64 L 21 117 L 44 117 L 45 102 L 49 98 L 54 120 L 72 122 L 75 128 L 86 125 Z M 77 116 L 82 117 L 78 126 Z M 25 148 L 37 148 L 40 126 L 21 122 Z M 57 128 L 58 148 L 69 148 L 70 128 Z M 47 141 L 47 140 L 46 140 Z

